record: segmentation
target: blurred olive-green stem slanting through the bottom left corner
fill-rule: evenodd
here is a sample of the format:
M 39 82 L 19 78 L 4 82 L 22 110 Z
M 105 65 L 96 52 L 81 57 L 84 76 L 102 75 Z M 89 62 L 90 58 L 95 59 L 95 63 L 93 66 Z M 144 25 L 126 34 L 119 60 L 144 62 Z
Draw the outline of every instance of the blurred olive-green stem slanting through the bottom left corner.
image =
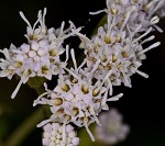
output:
M 32 113 L 7 139 L 2 146 L 19 146 L 45 116 L 43 106 Z

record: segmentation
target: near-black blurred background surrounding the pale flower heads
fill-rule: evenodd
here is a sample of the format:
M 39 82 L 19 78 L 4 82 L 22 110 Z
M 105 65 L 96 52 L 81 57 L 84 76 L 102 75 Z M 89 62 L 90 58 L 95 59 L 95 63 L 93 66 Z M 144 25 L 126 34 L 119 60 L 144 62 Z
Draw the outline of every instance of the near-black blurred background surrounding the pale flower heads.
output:
M 0 4 L 0 48 L 9 48 L 11 43 L 20 46 L 26 42 L 24 37 L 26 24 L 20 18 L 19 11 L 23 11 L 33 24 L 37 11 L 44 8 L 47 8 L 47 27 L 56 29 L 59 27 L 62 21 L 72 20 L 76 26 L 84 25 L 82 33 L 90 36 L 103 15 L 92 16 L 89 15 L 89 12 L 106 8 L 106 3 L 105 0 L 2 0 Z M 162 19 L 158 25 L 165 30 L 165 19 Z M 118 102 L 111 102 L 110 106 L 119 110 L 124 123 L 131 128 L 127 139 L 117 146 L 165 146 L 165 33 L 155 32 L 153 34 L 156 35 L 155 42 L 161 41 L 162 45 L 146 53 L 147 58 L 141 67 L 141 70 L 148 74 L 150 78 L 145 79 L 134 75 L 132 88 L 114 88 L 116 92 L 123 92 L 124 96 Z M 74 38 L 69 43 L 76 48 L 79 41 Z M 77 47 L 76 53 L 79 54 L 79 52 Z M 0 145 L 1 142 L 8 141 L 16 127 L 37 110 L 32 106 L 37 93 L 26 85 L 23 85 L 16 98 L 11 100 L 10 96 L 16 85 L 15 78 L 0 79 Z M 50 85 L 55 86 L 53 81 L 50 81 Z M 87 137 L 87 133 L 84 136 Z M 34 127 L 21 144 L 21 146 L 29 145 L 42 145 L 42 128 Z

